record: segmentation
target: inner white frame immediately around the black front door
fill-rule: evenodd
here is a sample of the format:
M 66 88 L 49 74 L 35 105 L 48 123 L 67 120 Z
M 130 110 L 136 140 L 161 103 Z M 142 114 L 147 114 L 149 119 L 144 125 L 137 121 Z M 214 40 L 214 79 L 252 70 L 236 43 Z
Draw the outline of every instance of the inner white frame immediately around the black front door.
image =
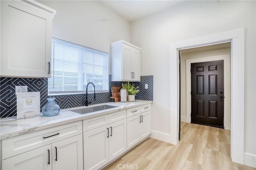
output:
M 186 122 L 191 122 L 191 63 L 201 63 L 208 61 L 224 61 L 224 128 L 230 130 L 230 54 L 216 55 L 211 57 L 198 57 L 186 59 Z M 225 74 L 226 73 L 226 74 Z

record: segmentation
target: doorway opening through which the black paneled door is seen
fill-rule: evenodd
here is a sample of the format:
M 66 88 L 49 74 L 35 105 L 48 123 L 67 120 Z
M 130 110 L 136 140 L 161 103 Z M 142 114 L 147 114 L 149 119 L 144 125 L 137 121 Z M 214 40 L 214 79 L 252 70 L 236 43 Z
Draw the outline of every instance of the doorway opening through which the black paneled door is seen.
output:
M 230 42 L 179 51 L 179 140 L 200 141 L 203 149 L 219 150 L 228 157 L 231 155 L 230 54 Z M 224 117 L 229 120 L 225 121 L 228 130 L 216 128 L 224 128 Z

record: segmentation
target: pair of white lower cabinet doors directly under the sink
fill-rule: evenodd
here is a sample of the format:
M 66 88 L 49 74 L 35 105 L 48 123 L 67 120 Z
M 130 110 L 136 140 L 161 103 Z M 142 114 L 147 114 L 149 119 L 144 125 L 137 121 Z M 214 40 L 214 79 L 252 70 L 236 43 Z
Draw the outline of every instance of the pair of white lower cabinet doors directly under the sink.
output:
M 126 119 L 84 133 L 84 169 L 98 169 L 126 151 Z

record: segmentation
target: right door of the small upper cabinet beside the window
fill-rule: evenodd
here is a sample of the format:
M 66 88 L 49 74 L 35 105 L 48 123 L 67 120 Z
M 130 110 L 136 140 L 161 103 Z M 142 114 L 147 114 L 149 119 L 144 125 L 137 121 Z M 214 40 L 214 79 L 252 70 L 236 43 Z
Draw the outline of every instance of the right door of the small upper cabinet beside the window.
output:
M 132 51 L 132 72 L 133 81 L 140 81 L 140 51 L 133 49 Z

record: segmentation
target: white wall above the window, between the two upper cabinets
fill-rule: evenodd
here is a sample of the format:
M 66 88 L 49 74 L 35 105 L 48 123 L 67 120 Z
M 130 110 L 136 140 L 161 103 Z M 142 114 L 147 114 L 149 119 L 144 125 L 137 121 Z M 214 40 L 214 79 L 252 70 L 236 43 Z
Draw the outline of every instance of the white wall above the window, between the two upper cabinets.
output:
M 110 43 L 130 42 L 130 23 L 99 1 L 41 0 L 56 10 L 52 36 L 109 53 Z

